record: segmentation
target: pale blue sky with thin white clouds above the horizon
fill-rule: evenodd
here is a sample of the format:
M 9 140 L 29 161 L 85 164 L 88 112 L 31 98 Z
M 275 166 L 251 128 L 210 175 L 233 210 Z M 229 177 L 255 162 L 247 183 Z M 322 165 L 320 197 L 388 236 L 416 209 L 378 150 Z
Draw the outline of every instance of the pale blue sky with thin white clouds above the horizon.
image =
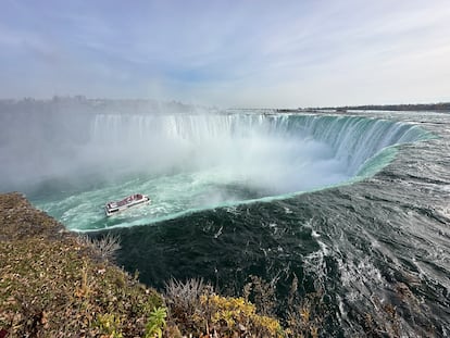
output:
M 247 108 L 450 101 L 448 0 L 0 5 L 0 98 Z

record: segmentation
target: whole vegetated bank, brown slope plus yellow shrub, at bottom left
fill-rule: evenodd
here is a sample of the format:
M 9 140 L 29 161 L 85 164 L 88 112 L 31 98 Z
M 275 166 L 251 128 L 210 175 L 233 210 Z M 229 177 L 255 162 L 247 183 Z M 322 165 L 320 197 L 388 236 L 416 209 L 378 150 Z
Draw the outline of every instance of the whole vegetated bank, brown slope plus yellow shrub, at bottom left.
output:
M 0 338 L 290 336 L 201 280 L 170 280 L 164 295 L 146 287 L 112 263 L 117 245 L 67 231 L 20 193 L 0 195 Z

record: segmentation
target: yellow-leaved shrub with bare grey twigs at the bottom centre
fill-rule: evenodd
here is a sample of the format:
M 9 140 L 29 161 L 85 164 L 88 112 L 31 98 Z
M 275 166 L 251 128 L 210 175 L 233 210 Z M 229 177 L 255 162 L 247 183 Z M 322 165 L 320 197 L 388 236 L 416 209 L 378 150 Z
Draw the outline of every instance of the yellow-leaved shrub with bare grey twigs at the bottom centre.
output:
M 170 280 L 167 329 L 193 337 L 283 337 L 277 320 L 258 313 L 243 298 L 222 297 L 201 279 Z M 167 337 L 171 335 L 167 333 Z

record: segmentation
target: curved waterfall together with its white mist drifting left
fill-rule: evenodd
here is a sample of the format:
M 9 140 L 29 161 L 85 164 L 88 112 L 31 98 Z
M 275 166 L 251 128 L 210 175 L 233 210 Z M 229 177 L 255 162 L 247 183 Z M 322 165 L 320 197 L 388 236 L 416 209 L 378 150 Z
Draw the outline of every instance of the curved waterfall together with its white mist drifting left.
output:
M 8 189 L 53 177 L 114 179 L 137 171 L 216 168 L 240 181 L 271 181 L 270 190 L 292 191 L 311 188 L 307 176 L 329 185 L 367 172 L 365 163 L 386 147 L 427 137 L 402 122 L 271 111 L 29 115 L 36 120 L 33 128 L 20 124 L 20 132 L 0 145 L 0 159 L 9 163 L 0 171 L 1 185 Z M 33 140 L 24 141 L 23 134 Z

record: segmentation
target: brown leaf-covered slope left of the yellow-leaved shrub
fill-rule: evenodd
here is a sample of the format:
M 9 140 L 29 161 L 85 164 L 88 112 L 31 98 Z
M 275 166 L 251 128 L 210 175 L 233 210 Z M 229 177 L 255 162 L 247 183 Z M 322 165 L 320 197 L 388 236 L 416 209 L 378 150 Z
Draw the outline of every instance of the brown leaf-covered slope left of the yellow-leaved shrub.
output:
M 0 337 L 142 336 L 162 298 L 22 195 L 0 195 Z

